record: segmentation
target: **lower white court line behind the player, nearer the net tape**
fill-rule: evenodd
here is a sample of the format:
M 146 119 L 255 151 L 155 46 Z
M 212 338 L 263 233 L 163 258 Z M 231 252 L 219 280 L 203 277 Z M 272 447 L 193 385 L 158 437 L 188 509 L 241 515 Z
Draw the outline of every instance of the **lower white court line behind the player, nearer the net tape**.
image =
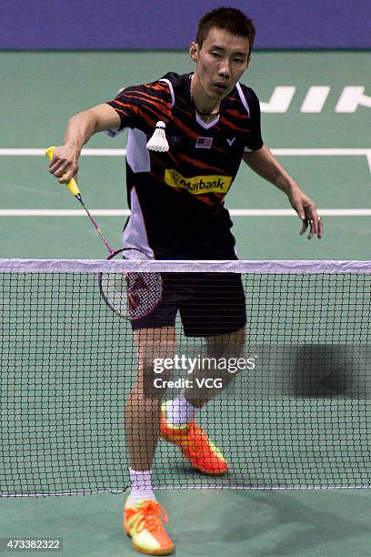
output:
M 228 209 L 232 217 L 297 217 L 294 209 Z M 129 209 L 91 209 L 95 217 L 128 217 Z M 322 217 L 371 217 L 371 208 L 318 209 Z M 85 217 L 84 209 L 0 209 L 0 217 Z

